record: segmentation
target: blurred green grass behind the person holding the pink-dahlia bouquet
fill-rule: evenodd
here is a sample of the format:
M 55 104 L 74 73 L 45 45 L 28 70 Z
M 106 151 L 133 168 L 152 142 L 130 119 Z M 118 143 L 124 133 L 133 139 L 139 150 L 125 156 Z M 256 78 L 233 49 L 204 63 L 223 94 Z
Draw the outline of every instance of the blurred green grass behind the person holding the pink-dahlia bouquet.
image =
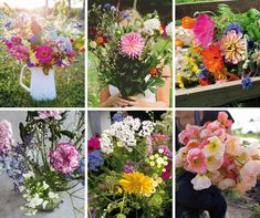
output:
M 165 44 L 165 40 L 159 41 L 155 50 L 159 50 Z M 171 43 L 168 44 L 171 48 Z M 90 107 L 98 107 L 100 106 L 100 84 L 97 80 L 97 71 L 96 64 L 98 64 L 98 59 L 92 53 L 89 52 L 89 76 L 87 76 L 87 86 L 89 86 L 89 94 L 87 94 L 87 104 Z M 171 80 L 173 82 L 173 80 Z M 170 85 L 170 105 L 173 105 L 173 95 L 171 95 L 173 85 Z

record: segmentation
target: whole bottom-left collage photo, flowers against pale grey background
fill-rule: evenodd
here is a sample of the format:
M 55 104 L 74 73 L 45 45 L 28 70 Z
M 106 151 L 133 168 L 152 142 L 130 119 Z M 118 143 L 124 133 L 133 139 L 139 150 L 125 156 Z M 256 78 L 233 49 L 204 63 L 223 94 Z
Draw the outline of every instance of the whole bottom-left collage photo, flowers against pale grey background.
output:
M 0 111 L 0 217 L 85 217 L 85 112 Z

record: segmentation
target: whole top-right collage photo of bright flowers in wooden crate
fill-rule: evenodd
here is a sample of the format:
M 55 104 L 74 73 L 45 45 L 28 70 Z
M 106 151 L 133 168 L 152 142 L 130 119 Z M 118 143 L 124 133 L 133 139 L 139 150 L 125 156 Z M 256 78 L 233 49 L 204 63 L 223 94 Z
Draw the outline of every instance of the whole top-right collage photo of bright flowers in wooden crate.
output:
M 259 0 L 176 0 L 177 107 L 259 107 Z

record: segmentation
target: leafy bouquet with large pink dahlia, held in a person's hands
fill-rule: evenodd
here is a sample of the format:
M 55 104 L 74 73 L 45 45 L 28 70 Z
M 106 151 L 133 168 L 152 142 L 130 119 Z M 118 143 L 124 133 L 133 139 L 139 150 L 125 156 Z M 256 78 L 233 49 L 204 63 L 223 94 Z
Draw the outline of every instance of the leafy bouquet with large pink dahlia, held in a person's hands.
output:
M 89 50 L 98 60 L 101 87 L 113 85 L 127 98 L 164 85 L 163 69 L 171 62 L 171 23 L 164 25 L 157 13 L 141 18 L 108 3 L 94 4 L 89 14 L 96 20 L 89 31 Z M 164 45 L 155 51 L 163 38 Z

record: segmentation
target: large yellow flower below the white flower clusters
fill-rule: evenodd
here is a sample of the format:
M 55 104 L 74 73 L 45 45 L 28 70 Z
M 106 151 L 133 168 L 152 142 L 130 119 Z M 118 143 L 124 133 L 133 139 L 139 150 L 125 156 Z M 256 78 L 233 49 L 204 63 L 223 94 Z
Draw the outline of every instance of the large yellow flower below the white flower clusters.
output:
M 143 173 L 134 172 L 131 174 L 123 174 L 123 178 L 118 184 L 128 194 L 150 195 L 154 188 L 153 179 L 145 176 Z

